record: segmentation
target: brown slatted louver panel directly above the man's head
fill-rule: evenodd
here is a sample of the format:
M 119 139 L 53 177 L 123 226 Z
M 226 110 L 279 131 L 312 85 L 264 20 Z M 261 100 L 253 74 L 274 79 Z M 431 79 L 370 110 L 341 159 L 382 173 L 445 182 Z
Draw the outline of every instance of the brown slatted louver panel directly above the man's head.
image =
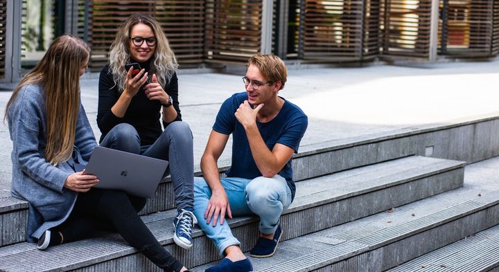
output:
M 241 64 L 261 51 L 261 0 L 207 0 L 205 57 Z

